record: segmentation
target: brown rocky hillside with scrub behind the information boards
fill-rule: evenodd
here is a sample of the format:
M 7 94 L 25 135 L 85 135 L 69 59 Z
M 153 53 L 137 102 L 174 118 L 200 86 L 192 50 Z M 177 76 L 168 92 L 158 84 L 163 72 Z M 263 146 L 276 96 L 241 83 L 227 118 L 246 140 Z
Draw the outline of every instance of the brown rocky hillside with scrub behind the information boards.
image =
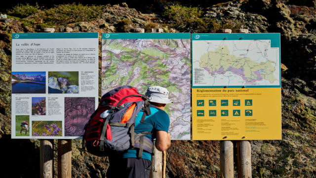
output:
M 10 74 L 11 33 L 40 32 L 43 27 L 99 33 L 130 32 L 137 27 L 146 31 L 159 27 L 164 32 L 212 33 L 221 28 L 244 28 L 251 33 L 281 33 L 282 140 L 250 141 L 252 175 L 315 178 L 316 0 L 219 0 L 218 4 L 207 1 L 200 7 L 190 6 L 191 0 L 186 2 L 154 0 L 153 11 L 150 5 L 129 8 L 128 2 L 52 8 L 20 5 L 1 11 L 6 15 L 0 17 L 0 151 L 11 157 L 2 166 L 2 170 L 7 170 L 1 173 L 4 178 L 37 177 L 40 172 L 39 140 L 10 139 Z M 55 150 L 56 147 L 55 140 Z M 107 158 L 80 151 L 80 140 L 74 140 L 72 148 L 74 178 L 105 177 Z M 166 172 L 169 178 L 221 178 L 218 141 L 172 141 Z

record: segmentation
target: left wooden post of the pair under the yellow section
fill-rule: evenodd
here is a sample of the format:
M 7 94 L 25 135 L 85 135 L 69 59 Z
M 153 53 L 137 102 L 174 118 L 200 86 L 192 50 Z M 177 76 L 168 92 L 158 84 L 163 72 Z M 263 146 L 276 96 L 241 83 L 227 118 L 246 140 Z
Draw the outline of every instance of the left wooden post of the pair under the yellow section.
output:
M 232 141 L 220 141 L 220 178 L 234 178 L 234 146 Z

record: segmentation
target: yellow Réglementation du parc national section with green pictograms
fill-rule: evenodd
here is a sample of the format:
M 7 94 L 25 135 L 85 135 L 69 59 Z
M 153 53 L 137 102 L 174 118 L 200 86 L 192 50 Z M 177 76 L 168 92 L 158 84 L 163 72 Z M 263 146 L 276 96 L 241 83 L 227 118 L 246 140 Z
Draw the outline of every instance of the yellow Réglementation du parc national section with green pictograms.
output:
M 192 89 L 193 140 L 281 139 L 280 88 Z

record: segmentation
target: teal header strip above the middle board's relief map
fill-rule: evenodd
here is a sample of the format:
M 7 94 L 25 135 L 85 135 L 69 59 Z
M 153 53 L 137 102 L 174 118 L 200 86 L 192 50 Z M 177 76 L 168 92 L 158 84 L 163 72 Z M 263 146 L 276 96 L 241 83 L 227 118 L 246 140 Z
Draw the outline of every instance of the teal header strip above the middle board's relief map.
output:
M 190 39 L 190 33 L 102 33 L 102 39 Z

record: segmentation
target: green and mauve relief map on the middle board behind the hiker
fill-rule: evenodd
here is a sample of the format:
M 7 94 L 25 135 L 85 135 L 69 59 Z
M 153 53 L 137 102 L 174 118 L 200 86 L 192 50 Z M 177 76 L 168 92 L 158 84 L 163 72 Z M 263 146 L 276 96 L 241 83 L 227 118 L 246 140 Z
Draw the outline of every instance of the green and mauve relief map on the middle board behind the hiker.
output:
M 167 88 L 171 138 L 190 139 L 190 59 L 190 39 L 103 39 L 102 94 L 122 85 L 143 94 L 150 86 Z

